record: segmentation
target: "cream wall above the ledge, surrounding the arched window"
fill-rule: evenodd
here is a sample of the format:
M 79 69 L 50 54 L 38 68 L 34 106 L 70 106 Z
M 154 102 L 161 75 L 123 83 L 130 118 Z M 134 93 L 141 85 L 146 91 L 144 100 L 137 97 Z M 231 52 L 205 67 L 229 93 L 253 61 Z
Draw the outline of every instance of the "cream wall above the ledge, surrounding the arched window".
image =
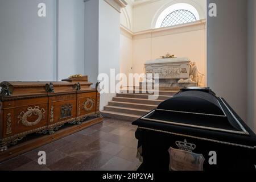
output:
M 194 6 L 201 19 L 205 19 L 206 1 L 205 0 L 159 0 L 134 6 L 133 9 L 133 31 L 143 31 L 155 28 L 156 19 L 167 7 L 175 3 L 188 3 Z

